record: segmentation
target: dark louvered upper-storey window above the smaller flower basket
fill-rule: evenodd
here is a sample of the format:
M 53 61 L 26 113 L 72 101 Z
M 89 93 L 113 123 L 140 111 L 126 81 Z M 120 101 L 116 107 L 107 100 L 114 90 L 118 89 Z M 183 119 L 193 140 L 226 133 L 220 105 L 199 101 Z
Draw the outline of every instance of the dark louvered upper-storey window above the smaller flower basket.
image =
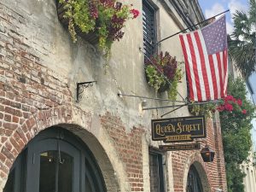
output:
M 146 58 L 156 51 L 155 9 L 143 0 L 143 49 Z

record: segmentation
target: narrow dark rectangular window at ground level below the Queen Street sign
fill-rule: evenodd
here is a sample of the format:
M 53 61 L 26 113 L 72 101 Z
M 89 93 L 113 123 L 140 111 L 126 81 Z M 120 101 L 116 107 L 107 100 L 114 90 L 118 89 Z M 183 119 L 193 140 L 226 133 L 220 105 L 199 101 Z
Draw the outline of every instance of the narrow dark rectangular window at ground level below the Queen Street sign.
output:
M 150 192 L 164 192 L 164 172 L 162 154 L 149 152 Z

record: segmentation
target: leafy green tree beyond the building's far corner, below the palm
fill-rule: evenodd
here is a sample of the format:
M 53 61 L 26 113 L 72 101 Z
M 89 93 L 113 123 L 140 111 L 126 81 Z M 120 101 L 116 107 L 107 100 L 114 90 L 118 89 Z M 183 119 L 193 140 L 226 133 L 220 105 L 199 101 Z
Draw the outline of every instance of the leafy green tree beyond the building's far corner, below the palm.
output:
M 243 192 L 244 174 L 240 170 L 240 165 L 247 160 L 252 147 L 250 130 L 255 108 L 253 103 L 247 100 L 246 85 L 242 79 L 229 79 L 228 95 L 241 99 L 241 108 L 247 111 L 241 113 L 241 110 L 234 108 L 232 111 L 223 110 L 219 113 L 228 189 L 229 192 Z

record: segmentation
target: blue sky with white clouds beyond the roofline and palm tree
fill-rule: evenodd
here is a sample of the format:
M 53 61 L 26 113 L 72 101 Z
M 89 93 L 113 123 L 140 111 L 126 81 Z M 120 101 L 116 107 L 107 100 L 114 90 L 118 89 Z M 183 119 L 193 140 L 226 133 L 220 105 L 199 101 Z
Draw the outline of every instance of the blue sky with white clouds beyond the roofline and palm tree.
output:
M 227 33 L 231 34 L 233 32 L 233 21 L 232 15 L 236 13 L 236 10 L 243 11 L 247 13 L 248 9 L 248 1 L 247 0 L 198 0 L 203 14 L 205 15 L 206 19 L 218 15 L 221 12 L 224 12 L 227 9 L 230 9 L 230 12 L 226 14 L 226 26 L 227 26 Z M 254 102 L 256 102 L 256 73 L 250 77 L 250 81 L 253 85 L 253 90 L 255 91 L 253 95 Z M 256 119 L 253 119 L 253 145 L 254 151 L 256 150 Z

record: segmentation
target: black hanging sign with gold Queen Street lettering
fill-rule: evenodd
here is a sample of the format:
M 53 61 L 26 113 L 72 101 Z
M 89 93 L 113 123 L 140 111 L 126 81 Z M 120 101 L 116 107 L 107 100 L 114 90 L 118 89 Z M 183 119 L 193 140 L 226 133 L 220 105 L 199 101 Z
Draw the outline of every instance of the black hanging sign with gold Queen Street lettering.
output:
M 191 142 L 194 138 L 207 137 L 204 116 L 152 119 L 151 125 L 153 141 Z

